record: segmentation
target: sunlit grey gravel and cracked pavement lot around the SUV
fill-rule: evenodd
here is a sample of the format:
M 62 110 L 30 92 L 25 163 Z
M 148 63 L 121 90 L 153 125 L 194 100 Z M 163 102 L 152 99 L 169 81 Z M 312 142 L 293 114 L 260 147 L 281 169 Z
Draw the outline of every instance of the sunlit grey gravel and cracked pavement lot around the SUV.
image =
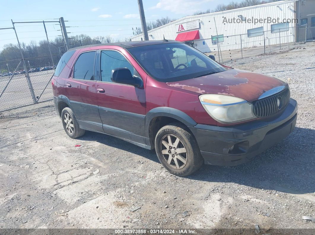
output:
M 228 64 L 286 79 L 299 104 L 295 130 L 236 167 L 180 178 L 154 151 L 94 132 L 69 138 L 52 102 L 3 112 L 0 227 L 315 229 L 302 220 L 315 217 L 315 44 L 296 46 Z

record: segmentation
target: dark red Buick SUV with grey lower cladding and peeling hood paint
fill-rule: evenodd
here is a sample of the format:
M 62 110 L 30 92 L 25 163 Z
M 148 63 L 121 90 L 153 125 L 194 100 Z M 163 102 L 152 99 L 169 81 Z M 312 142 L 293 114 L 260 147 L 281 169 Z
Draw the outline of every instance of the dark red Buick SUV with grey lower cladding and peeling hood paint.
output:
M 96 131 L 155 148 L 180 176 L 245 163 L 289 135 L 297 116 L 285 81 L 171 40 L 73 48 L 52 85 L 68 136 Z

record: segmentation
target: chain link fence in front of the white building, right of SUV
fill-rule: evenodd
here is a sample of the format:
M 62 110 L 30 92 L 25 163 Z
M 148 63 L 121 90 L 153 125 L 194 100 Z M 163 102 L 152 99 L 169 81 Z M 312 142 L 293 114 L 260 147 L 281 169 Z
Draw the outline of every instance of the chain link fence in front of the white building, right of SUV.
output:
M 239 58 L 291 50 L 296 42 L 315 40 L 315 25 L 300 25 L 284 29 L 261 31 L 240 35 L 216 35 L 194 40 L 196 49 L 214 55 L 222 64 Z

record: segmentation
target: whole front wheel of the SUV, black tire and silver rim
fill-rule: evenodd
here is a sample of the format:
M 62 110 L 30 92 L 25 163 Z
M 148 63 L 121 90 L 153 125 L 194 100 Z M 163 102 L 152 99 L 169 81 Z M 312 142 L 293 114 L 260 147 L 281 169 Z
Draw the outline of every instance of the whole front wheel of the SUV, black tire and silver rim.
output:
M 195 137 L 180 123 L 163 126 L 157 132 L 155 151 L 163 167 L 177 176 L 194 173 L 204 162 Z

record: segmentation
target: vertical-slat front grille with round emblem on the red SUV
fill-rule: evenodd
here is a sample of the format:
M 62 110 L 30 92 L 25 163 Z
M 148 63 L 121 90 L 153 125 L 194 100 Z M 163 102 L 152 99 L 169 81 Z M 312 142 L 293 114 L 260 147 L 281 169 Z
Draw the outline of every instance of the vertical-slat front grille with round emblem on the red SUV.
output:
M 269 117 L 279 113 L 289 104 L 290 90 L 285 90 L 254 102 L 254 114 L 257 117 Z

